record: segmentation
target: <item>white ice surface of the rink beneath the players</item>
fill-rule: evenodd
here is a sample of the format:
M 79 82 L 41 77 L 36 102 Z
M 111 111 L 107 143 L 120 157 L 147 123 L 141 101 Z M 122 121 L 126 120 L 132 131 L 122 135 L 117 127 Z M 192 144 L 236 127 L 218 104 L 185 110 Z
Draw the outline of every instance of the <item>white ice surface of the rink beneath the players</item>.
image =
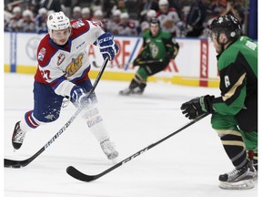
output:
M 5 158 L 31 157 L 76 111 L 70 104 L 55 122 L 27 132 L 22 148 L 14 152 L 11 135 L 15 122 L 33 109 L 33 81 L 32 75 L 5 73 Z M 219 95 L 217 88 L 158 82 L 148 83 L 143 96 L 118 96 L 126 86 L 128 82 L 101 80 L 96 88 L 99 109 L 111 140 L 116 142 L 119 161 L 188 123 L 179 110 L 184 101 Z M 257 183 L 248 191 L 218 188 L 218 175 L 233 166 L 209 121 L 210 116 L 200 120 L 96 181 L 82 182 L 66 174 L 66 167 L 73 165 L 96 174 L 112 163 L 79 116 L 28 166 L 5 168 L 5 197 L 256 197 Z

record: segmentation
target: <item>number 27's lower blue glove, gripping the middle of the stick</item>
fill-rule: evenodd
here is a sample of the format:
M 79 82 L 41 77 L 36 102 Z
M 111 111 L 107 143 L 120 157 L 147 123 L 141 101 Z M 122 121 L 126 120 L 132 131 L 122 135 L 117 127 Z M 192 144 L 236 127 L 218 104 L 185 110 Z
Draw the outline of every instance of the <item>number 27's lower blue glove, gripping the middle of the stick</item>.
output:
M 84 108 L 88 103 L 86 89 L 79 86 L 72 88 L 70 92 L 70 100 L 76 108 Z

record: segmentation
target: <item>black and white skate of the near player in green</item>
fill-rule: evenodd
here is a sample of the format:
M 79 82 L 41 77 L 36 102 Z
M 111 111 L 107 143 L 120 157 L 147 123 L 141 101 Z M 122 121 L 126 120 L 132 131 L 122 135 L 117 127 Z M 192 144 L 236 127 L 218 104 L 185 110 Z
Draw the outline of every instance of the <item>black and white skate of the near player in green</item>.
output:
M 219 187 L 227 190 L 247 190 L 255 186 L 253 181 L 255 178 L 256 169 L 252 162 L 248 162 L 240 169 L 221 174 Z

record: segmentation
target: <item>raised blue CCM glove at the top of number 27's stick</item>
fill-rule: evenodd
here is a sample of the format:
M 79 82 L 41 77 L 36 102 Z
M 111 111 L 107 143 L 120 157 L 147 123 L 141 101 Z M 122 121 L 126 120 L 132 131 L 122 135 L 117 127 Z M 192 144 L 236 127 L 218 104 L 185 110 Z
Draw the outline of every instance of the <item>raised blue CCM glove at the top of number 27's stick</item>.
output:
M 118 46 L 116 45 L 114 41 L 114 36 L 110 33 L 105 33 L 98 37 L 96 43 L 98 42 L 100 47 L 100 52 L 104 59 L 106 57 L 109 57 L 109 60 L 114 60 L 116 54 L 118 53 Z

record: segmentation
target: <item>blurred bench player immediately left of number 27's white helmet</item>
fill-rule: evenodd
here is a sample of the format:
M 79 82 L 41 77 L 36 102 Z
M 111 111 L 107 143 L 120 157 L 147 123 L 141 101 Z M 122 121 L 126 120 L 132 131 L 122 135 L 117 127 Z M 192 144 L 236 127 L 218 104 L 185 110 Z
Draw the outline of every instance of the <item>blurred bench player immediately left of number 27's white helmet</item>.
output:
M 35 17 L 36 32 L 38 34 L 47 33 L 47 10 L 42 7 L 38 10 L 38 15 Z

